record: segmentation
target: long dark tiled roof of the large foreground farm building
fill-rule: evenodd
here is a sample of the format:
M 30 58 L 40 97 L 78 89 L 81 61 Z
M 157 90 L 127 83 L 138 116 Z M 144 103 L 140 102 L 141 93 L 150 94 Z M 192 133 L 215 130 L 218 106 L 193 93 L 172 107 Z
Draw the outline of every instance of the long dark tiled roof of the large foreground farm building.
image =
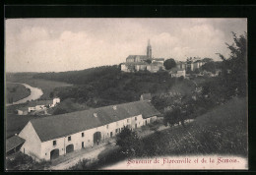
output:
M 116 110 L 113 106 L 116 106 Z M 31 123 L 41 142 L 45 142 L 140 114 L 148 118 L 160 112 L 148 101 L 135 101 L 32 119 Z

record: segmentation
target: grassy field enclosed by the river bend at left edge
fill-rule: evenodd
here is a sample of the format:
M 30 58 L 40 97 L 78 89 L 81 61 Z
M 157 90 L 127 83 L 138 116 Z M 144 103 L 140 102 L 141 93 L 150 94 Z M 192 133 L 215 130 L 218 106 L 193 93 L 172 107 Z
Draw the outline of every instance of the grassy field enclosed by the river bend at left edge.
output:
M 16 102 L 23 99 L 31 94 L 29 88 L 19 84 L 6 84 L 6 98 L 7 103 Z

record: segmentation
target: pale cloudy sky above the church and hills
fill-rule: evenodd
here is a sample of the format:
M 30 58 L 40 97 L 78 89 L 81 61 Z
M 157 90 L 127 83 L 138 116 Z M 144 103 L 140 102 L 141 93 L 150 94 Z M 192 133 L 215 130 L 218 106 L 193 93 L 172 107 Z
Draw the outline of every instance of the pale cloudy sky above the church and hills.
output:
M 7 19 L 6 72 L 64 72 L 114 65 L 128 55 L 156 58 L 228 57 L 231 31 L 247 31 L 246 19 Z

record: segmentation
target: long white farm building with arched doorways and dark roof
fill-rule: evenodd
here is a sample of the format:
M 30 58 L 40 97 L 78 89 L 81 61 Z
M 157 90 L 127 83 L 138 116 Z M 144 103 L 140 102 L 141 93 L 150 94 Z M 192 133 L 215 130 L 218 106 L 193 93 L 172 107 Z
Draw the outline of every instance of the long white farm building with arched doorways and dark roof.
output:
M 120 133 L 155 120 L 160 112 L 148 101 L 135 101 L 96 109 L 32 119 L 19 134 L 21 150 L 34 159 L 49 160 L 94 146 Z

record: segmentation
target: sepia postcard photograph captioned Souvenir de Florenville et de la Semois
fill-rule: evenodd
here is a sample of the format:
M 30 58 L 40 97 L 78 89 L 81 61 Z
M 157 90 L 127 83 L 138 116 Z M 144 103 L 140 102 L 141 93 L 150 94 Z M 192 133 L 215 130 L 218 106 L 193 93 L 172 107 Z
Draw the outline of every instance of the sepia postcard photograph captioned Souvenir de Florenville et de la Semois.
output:
M 246 18 L 5 19 L 5 170 L 248 170 Z

